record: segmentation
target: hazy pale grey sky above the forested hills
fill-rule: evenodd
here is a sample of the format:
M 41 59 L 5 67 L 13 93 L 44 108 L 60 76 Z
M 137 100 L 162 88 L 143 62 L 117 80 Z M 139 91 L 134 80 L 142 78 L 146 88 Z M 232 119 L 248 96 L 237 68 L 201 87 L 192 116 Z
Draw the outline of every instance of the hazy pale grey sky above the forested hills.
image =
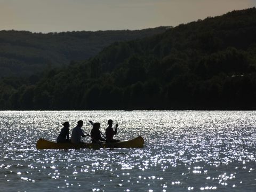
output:
M 256 0 L 0 0 L 0 30 L 54 32 L 177 26 Z

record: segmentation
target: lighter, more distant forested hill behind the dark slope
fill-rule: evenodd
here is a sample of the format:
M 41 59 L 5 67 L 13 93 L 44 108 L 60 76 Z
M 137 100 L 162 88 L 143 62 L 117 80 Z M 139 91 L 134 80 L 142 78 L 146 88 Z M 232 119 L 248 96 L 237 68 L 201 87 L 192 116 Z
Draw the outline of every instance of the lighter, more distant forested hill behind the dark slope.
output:
M 63 67 L 71 60 L 85 60 L 103 47 L 163 33 L 166 27 L 143 30 L 73 31 L 31 33 L 0 31 L 0 77 L 31 75 L 51 67 Z

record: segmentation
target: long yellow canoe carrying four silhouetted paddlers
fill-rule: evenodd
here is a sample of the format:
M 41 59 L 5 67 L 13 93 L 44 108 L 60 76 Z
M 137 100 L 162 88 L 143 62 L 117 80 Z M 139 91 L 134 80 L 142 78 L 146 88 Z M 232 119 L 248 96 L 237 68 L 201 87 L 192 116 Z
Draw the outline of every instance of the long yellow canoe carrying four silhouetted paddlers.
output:
M 36 143 L 37 149 L 99 149 L 99 148 L 142 148 L 144 140 L 141 136 L 131 140 L 113 142 L 113 143 L 57 143 L 46 139 L 39 139 Z

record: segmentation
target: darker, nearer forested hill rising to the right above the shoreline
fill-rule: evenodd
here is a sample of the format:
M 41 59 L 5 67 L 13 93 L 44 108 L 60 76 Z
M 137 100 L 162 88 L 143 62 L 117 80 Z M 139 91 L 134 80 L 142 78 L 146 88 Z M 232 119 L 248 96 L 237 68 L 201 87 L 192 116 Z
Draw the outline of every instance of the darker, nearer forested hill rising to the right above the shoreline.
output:
M 0 87 L 2 109 L 256 109 L 256 9 L 114 43 Z

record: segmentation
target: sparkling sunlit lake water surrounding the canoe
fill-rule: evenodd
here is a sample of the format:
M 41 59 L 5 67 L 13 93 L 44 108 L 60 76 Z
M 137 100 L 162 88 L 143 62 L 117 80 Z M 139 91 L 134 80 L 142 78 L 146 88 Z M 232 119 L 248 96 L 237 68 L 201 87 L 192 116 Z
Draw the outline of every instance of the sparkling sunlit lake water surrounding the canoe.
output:
M 110 118 L 145 147 L 36 149 Z M 256 111 L 0 111 L 0 191 L 256 191 L 255 126 Z

